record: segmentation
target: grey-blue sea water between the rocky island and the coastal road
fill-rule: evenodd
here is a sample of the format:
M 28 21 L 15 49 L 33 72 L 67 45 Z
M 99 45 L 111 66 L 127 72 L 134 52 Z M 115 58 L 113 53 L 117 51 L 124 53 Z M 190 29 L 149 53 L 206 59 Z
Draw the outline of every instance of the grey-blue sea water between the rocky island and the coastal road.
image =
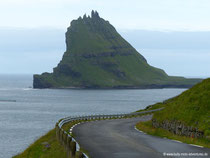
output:
M 186 89 L 32 89 L 32 75 L 0 75 L 0 158 L 10 158 L 63 117 L 133 112 Z

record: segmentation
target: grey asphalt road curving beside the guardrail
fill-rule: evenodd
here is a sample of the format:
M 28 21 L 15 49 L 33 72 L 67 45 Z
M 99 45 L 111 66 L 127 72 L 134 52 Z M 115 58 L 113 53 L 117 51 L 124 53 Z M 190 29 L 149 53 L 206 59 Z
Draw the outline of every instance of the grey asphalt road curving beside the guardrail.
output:
M 73 133 L 91 158 L 159 158 L 166 157 L 163 156 L 164 152 L 207 153 L 209 156 L 185 157 L 210 157 L 210 149 L 150 136 L 134 129 L 137 122 L 149 119 L 151 115 L 132 119 L 87 122 L 77 125 Z

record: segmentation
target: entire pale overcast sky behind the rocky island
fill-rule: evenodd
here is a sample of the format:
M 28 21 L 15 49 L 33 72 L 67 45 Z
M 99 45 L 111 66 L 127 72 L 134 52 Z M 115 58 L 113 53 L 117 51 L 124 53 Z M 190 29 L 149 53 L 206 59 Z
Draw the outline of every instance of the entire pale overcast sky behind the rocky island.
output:
M 210 76 L 209 0 L 0 0 L 0 73 L 52 71 L 70 21 L 91 10 L 170 75 Z

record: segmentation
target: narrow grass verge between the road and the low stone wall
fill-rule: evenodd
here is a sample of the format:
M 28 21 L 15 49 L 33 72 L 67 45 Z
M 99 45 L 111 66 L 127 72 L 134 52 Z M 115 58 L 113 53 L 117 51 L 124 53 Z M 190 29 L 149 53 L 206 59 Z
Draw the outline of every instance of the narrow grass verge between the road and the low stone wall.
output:
M 210 142 L 209 142 L 209 140 L 207 140 L 205 138 L 190 138 L 190 137 L 186 137 L 186 136 L 175 135 L 165 129 L 154 128 L 152 126 L 152 121 L 139 122 L 136 124 L 136 128 L 138 130 L 141 130 L 141 131 L 143 131 L 147 134 L 153 135 L 153 136 L 168 138 L 168 139 L 172 139 L 172 140 L 178 140 L 183 143 L 195 144 L 195 145 L 210 148 Z

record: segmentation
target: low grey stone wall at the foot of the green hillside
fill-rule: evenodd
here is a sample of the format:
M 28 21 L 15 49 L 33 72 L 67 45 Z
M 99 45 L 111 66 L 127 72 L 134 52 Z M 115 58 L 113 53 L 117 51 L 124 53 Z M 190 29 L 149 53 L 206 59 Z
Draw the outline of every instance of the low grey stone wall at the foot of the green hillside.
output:
M 186 126 L 180 121 L 168 121 L 158 122 L 156 119 L 152 120 L 152 125 L 155 128 L 163 128 L 176 135 L 187 136 L 191 138 L 202 138 L 204 136 L 203 131 L 199 131 L 198 128 L 192 126 Z

